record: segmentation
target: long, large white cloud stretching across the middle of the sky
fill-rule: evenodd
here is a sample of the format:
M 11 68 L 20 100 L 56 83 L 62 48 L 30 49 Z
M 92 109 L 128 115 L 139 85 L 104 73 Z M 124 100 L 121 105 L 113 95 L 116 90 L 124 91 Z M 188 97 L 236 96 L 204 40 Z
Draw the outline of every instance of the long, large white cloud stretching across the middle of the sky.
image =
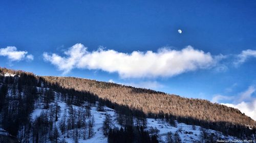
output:
M 74 68 L 117 72 L 122 78 L 170 77 L 187 71 L 206 69 L 216 65 L 210 53 L 187 46 L 181 50 L 161 48 L 153 51 L 123 53 L 115 50 L 88 51 L 82 44 L 75 44 L 64 52 L 43 54 L 45 61 L 68 73 Z

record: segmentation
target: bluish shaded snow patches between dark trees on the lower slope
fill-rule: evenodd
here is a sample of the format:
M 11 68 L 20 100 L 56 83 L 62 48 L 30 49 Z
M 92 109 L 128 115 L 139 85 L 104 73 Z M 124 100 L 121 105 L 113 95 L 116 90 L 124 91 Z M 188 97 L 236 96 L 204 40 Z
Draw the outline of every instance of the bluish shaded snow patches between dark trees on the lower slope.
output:
M 68 105 L 67 105 L 67 103 L 62 102 L 57 99 L 55 99 L 54 102 L 57 102 L 58 106 L 60 107 L 59 120 L 54 123 L 54 126 L 56 126 L 58 128 L 58 131 L 60 134 L 59 139 L 62 140 L 63 138 L 65 138 L 65 140 L 69 143 L 74 142 L 74 139 L 72 137 L 67 137 L 67 133 L 61 134 L 60 128 L 58 126 L 61 122 L 60 119 L 63 116 L 63 112 L 65 111 L 65 109 L 68 110 Z M 51 104 L 54 104 L 54 103 L 51 103 Z M 84 143 L 85 142 L 88 142 L 88 143 L 90 143 L 90 142 L 102 142 L 102 143 L 108 142 L 108 138 L 106 136 L 104 136 L 103 132 L 102 132 L 103 121 L 104 121 L 106 113 L 110 114 L 112 119 L 115 119 L 116 118 L 115 110 L 104 106 L 104 111 L 97 111 L 97 103 L 96 104 L 84 103 L 83 106 L 86 106 L 86 105 L 90 106 L 91 115 L 92 115 L 92 117 L 94 117 L 94 120 L 95 120 L 95 124 L 93 126 L 94 136 L 90 139 L 83 139 L 82 137 L 80 137 L 78 142 L 81 142 L 81 143 L 83 143 L 83 142 Z M 73 106 L 73 108 L 78 109 L 78 106 L 75 106 L 75 105 L 72 105 L 72 106 Z M 31 114 L 32 120 L 35 120 L 35 118 L 38 117 L 43 110 L 47 110 L 47 109 L 44 109 L 43 105 L 39 104 Z M 120 128 L 120 125 L 116 124 L 115 120 L 113 120 L 113 122 L 114 122 L 113 125 L 115 127 Z M 166 138 L 168 132 L 172 132 L 173 134 L 178 132 L 181 137 L 182 142 L 201 142 L 200 134 L 201 134 L 203 128 L 201 128 L 200 126 L 191 126 L 191 125 L 186 125 L 184 123 L 178 123 L 177 121 L 175 121 L 175 122 L 176 122 L 176 124 L 174 127 L 174 126 L 171 126 L 169 123 L 166 123 L 164 120 L 162 121 L 161 119 L 148 118 L 146 130 L 151 130 L 151 129 L 159 130 L 158 140 L 160 142 L 166 142 L 165 138 Z M 205 130 L 208 133 L 219 134 L 221 136 L 221 138 L 223 138 L 223 139 L 228 139 L 228 140 L 238 139 L 238 138 L 232 137 L 232 136 L 224 136 L 221 132 L 218 132 L 218 131 L 209 130 L 209 129 L 203 129 L 203 130 Z

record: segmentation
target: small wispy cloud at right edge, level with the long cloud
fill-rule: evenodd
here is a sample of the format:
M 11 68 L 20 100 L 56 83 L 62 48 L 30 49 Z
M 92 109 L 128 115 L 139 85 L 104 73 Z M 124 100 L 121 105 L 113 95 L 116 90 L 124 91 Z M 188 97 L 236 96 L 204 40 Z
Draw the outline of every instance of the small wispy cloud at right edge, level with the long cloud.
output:
M 243 50 L 240 54 L 237 55 L 237 60 L 233 62 L 235 66 L 238 66 L 244 63 L 248 58 L 254 57 L 256 58 L 256 50 Z

